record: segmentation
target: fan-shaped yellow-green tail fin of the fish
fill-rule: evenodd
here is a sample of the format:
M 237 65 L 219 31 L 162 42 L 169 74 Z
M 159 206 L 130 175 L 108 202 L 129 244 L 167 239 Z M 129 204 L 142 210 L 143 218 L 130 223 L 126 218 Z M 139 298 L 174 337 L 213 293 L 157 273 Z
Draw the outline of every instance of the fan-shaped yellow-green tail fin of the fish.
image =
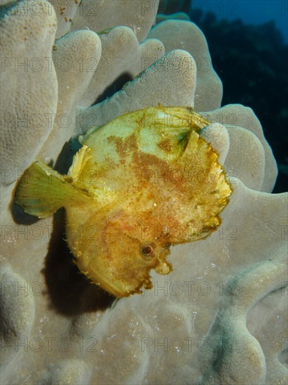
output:
M 77 190 L 67 176 L 36 160 L 17 185 L 15 203 L 22 206 L 27 214 L 46 218 L 64 207 L 65 202 L 75 195 Z

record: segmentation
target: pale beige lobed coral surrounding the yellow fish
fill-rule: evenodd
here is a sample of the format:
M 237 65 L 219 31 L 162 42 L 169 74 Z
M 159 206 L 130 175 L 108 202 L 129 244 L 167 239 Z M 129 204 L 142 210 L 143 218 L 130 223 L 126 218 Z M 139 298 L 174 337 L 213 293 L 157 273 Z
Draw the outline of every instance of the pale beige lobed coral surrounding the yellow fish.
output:
M 1 8 L 1 384 L 287 384 L 287 194 L 271 194 L 277 167 L 253 111 L 221 106 L 199 28 L 183 14 L 157 17 L 158 6 Z M 67 174 L 79 135 L 159 105 L 208 120 L 199 138 L 232 193 L 216 231 L 171 246 L 173 271 L 152 270 L 152 288 L 115 300 L 71 262 L 63 211 L 37 220 L 15 205 L 15 190 L 36 158 Z M 101 141 L 94 146 L 104 167 Z M 193 194 L 205 197 L 191 186 Z M 189 210 L 167 195 L 161 204 L 168 214 Z M 123 241 L 121 232 L 111 238 L 115 249 Z

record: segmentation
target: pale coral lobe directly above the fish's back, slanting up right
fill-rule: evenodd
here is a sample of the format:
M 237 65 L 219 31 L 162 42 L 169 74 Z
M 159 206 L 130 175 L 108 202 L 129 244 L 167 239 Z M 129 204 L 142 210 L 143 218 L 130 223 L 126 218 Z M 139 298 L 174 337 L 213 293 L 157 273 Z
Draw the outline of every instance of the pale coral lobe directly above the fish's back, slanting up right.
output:
M 195 80 L 192 56 L 183 50 L 169 52 L 112 97 L 83 110 L 79 114 L 82 132 L 87 132 L 89 127 L 104 125 L 124 113 L 159 103 L 163 106 L 194 106 Z

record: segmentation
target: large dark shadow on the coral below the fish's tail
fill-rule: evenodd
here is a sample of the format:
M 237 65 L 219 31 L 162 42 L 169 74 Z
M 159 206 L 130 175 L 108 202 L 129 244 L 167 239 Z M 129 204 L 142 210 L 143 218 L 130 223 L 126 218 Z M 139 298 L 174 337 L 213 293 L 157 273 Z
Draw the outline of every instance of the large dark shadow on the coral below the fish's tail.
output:
M 110 307 L 115 297 L 80 273 L 64 240 L 64 231 L 64 210 L 60 210 L 53 218 L 52 237 L 43 269 L 50 306 L 66 316 Z

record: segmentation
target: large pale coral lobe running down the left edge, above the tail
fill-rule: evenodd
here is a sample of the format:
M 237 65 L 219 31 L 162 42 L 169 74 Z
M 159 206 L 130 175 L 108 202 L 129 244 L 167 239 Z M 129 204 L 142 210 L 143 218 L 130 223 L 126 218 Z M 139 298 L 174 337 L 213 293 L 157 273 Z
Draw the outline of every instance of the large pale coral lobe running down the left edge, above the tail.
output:
M 48 138 L 57 109 L 57 77 L 51 51 L 57 22 L 49 3 L 7 9 L 1 34 L 1 221 L 15 182 Z

